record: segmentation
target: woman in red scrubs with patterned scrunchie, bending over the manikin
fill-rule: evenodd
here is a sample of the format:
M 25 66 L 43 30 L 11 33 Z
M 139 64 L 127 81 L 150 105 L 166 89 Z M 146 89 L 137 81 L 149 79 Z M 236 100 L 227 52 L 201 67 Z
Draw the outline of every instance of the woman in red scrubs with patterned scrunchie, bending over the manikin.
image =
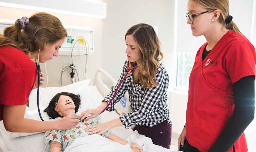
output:
M 29 94 L 37 88 L 38 82 L 37 68 L 31 59 L 44 63 L 53 56 L 57 57 L 66 37 L 67 32 L 60 20 L 47 13 L 17 19 L 0 35 L 0 120 L 7 131 L 39 132 L 77 125 L 78 116 L 57 121 L 24 118 Z M 42 81 L 41 72 L 40 84 Z

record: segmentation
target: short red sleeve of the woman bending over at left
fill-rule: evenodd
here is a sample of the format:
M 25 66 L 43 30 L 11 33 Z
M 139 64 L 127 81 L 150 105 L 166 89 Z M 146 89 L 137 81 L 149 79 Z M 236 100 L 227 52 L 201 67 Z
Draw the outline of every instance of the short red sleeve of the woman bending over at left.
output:
M 0 75 L 0 104 L 26 104 L 33 88 L 36 71 L 27 68 L 11 69 Z

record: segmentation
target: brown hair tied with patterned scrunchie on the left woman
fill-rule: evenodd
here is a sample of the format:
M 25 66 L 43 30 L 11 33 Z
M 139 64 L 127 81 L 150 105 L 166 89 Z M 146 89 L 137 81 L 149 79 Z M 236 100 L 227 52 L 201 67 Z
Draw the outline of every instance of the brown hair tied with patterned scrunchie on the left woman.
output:
M 0 46 L 12 46 L 27 55 L 43 50 L 46 45 L 67 37 L 60 20 L 48 13 L 36 13 L 30 18 L 17 19 L 15 24 L 5 27 L 0 34 Z

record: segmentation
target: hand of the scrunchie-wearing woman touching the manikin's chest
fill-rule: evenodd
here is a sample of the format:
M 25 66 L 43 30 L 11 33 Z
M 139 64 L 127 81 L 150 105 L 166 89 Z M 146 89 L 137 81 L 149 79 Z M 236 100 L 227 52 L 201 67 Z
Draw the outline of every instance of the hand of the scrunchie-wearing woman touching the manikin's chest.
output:
M 56 129 L 62 130 L 62 129 L 74 128 L 79 122 L 78 118 L 79 116 L 67 116 L 67 117 L 60 118 L 56 120 L 56 123 L 57 123 Z

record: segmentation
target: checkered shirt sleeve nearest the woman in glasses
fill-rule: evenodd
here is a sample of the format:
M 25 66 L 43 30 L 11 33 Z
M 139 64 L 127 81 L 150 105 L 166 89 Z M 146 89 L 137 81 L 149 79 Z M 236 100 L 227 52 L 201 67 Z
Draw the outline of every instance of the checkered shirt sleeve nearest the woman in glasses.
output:
M 169 77 L 165 70 L 160 69 L 158 71 L 156 74 L 156 81 L 158 84 L 156 87 L 145 90 L 141 101 L 141 106 L 137 110 L 132 111 L 130 114 L 119 117 L 126 128 L 134 124 L 138 125 L 139 122 L 148 119 L 148 116 L 155 109 L 160 98 L 167 92 Z

